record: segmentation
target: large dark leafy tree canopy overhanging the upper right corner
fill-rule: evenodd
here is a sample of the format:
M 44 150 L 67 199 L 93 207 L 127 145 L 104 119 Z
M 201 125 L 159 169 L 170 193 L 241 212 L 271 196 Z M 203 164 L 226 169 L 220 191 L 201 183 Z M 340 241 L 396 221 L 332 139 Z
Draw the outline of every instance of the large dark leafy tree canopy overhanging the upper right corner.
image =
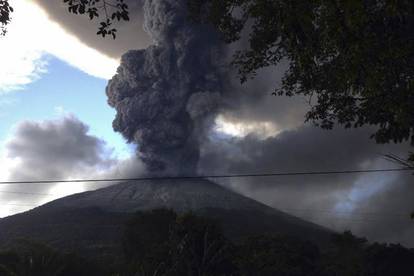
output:
M 330 129 L 376 125 L 379 143 L 414 142 L 411 0 L 189 0 L 192 17 L 227 42 L 248 34 L 233 64 L 242 82 L 289 61 L 276 95 L 305 95 L 306 119 Z

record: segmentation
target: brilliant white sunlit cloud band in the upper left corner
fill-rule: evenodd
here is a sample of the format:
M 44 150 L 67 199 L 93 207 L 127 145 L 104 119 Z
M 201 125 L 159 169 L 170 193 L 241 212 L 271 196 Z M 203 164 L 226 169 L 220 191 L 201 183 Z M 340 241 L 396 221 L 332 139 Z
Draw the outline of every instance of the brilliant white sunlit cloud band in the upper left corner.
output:
M 92 49 L 48 18 L 30 0 L 12 0 L 12 22 L 0 37 L 0 92 L 21 89 L 46 72 L 47 55 L 98 78 L 109 79 L 118 61 Z

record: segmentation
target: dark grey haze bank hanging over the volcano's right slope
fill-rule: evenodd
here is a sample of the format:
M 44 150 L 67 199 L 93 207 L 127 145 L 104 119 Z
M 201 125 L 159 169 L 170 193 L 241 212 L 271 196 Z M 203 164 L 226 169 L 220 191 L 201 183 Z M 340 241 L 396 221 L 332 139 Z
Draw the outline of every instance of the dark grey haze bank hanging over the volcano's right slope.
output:
M 204 174 L 341 171 L 398 167 L 384 154 L 405 156 L 408 144 L 378 145 L 370 128 L 331 131 L 302 126 L 263 139 L 213 138 L 204 145 Z M 403 173 L 239 178 L 219 181 L 307 220 L 371 240 L 414 246 L 413 176 Z

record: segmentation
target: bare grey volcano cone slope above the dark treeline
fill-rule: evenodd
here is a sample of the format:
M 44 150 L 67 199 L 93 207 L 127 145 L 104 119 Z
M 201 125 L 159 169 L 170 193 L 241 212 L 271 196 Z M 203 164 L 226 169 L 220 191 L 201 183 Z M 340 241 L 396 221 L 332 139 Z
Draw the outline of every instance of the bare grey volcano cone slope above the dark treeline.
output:
M 284 234 L 325 244 L 333 233 L 209 180 L 148 180 L 70 195 L 3 218 L 0 246 L 24 238 L 86 255 L 114 254 L 120 250 L 126 220 L 136 211 L 157 208 L 216 219 L 232 240 Z

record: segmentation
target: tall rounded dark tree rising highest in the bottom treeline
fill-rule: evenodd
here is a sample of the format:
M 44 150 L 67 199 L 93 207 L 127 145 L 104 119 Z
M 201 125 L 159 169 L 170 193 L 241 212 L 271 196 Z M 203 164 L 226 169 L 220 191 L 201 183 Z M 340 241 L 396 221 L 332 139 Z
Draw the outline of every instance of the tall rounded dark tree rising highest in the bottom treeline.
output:
M 230 243 L 215 221 L 166 209 L 138 212 L 126 225 L 127 275 L 231 275 Z

